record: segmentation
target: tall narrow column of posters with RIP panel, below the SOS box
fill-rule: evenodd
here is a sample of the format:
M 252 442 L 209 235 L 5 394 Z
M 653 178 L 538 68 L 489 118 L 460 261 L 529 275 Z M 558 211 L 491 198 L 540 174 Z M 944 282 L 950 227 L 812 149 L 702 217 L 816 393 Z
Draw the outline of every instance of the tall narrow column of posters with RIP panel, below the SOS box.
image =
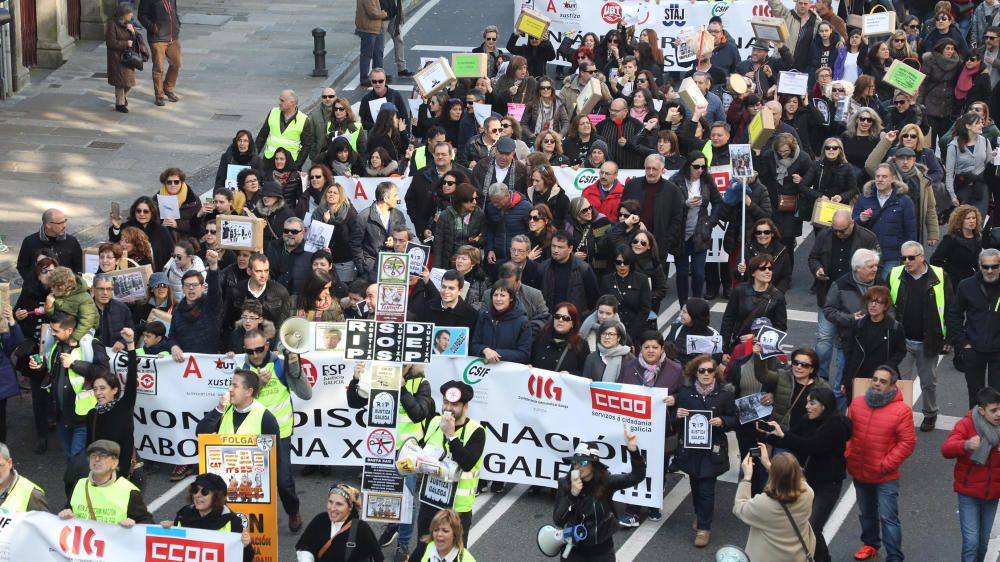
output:
M 412 496 L 396 470 L 396 414 L 403 368 L 400 364 L 375 363 L 371 367 L 368 395 L 368 435 L 361 475 L 361 517 L 366 521 L 409 523 Z

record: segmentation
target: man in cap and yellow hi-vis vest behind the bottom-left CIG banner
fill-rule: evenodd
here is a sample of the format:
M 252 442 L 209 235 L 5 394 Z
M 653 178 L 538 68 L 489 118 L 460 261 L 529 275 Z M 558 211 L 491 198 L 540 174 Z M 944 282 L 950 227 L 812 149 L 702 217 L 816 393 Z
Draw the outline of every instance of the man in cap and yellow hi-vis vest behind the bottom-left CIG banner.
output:
M 142 491 L 124 476 L 118 476 L 118 443 L 98 439 L 87 447 L 90 474 L 73 488 L 60 519 L 89 519 L 121 525 L 126 529 L 137 523 L 152 523 L 153 515 L 146 508 Z

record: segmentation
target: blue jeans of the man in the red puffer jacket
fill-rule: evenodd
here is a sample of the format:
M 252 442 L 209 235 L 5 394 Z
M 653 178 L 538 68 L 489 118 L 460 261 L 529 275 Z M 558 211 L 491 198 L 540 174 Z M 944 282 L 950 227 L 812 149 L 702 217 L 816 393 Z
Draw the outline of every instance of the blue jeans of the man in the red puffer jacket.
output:
M 902 562 L 903 528 L 899 524 L 899 480 L 881 484 L 866 484 L 855 480 L 854 489 L 858 498 L 858 519 L 861 520 L 861 542 L 872 548 L 879 548 L 884 541 L 886 562 Z

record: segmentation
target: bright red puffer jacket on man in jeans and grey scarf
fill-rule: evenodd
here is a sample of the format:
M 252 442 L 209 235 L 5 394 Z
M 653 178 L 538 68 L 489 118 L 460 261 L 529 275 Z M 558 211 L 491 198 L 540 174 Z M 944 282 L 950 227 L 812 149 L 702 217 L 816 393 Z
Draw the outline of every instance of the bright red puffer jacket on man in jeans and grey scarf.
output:
M 913 454 L 917 434 L 913 431 L 913 411 L 903 402 L 901 392 L 881 408 L 872 408 L 865 395 L 854 397 L 847 417 L 854 433 L 847 441 L 847 471 L 865 484 L 881 484 L 899 479 L 899 467 Z

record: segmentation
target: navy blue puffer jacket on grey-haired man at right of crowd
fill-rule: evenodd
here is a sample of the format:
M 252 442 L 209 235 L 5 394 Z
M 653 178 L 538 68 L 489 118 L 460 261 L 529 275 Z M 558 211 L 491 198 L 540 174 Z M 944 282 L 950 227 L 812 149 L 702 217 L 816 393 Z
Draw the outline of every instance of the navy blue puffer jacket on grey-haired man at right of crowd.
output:
M 892 195 L 880 206 L 875 190 L 875 180 L 861 188 L 861 197 L 854 204 L 851 213 L 854 222 L 871 230 L 882 248 L 882 262 L 899 261 L 902 256 L 900 246 L 907 240 L 917 239 L 917 216 L 913 210 L 913 200 L 907 196 L 910 188 L 901 181 L 892 182 Z M 861 212 L 871 209 L 868 221 L 861 220 Z

